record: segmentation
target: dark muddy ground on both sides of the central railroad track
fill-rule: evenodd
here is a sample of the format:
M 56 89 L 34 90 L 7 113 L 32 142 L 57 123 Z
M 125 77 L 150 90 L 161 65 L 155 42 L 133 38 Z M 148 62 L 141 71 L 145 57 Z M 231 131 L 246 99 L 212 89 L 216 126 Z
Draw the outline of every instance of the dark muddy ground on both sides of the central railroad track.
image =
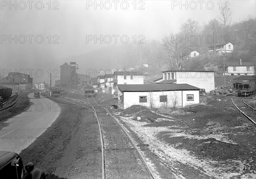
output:
M 79 92 L 68 97 L 84 98 Z M 201 105 L 183 110 L 151 110 L 133 106 L 111 108 L 129 131 L 159 178 L 256 178 L 256 131 L 236 111 L 233 96 L 203 97 Z M 48 179 L 100 178 L 99 129 L 90 111 L 59 102 L 55 122 L 20 153 Z M 96 101 L 115 103 L 111 97 Z M 106 105 L 105 105 L 106 106 Z

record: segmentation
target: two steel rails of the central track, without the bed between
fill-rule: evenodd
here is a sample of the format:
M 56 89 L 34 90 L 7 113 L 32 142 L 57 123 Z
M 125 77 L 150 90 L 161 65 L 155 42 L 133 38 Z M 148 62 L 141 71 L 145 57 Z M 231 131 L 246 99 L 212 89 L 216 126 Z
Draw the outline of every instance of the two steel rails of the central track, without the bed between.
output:
M 58 98 L 60 99 L 60 98 Z M 107 150 L 107 147 L 104 147 L 104 140 L 103 140 L 103 136 L 102 136 L 102 126 L 101 126 L 101 122 L 104 121 L 108 121 L 108 120 L 103 120 L 100 122 L 98 116 L 97 116 L 97 109 L 100 109 L 101 111 L 105 111 L 104 113 L 107 113 L 109 116 L 111 116 L 112 119 L 114 119 L 113 121 L 116 122 L 119 127 L 122 129 L 123 133 L 128 137 L 129 141 L 132 144 L 132 148 L 136 149 L 137 154 L 139 154 L 141 161 L 143 162 L 145 168 L 148 170 L 148 174 L 150 176 L 150 178 L 152 179 L 156 179 L 156 177 L 154 176 L 154 173 L 152 172 L 152 170 L 149 168 L 145 158 L 143 157 L 142 153 L 140 153 L 139 149 L 137 148 L 137 146 L 135 145 L 135 142 L 131 139 L 131 136 L 128 134 L 128 132 L 125 130 L 125 128 L 121 125 L 121 123 L 108 111 L 108 109 L 106 109 L 105 107 L 99 105 L 97 102 L 95 102 L 95 100 L 93 99 L 93 101 L 90 101 L 87 98 L 87 101 L 81 100 L 79 99 L 79 101 L 70 101 L 72 99 L 60 99 L 63 100 L 65 102 L 69 102 L 75 105 L 79 105 L 81 107 L 87 108 L 88 110 L 92 111 L 94 113 L 94 115 L 96 116 L 98 125 L 99 125 L 99 131 L 100 131 L 100 137 L 101 137 L 101 148 L 102 148 L 102 179 L 105 179 L 105 170 L 106 170 L 106 165 L 105 165 L 105 150 Z M 93 103 L 93 104 L 92 104 Z M 103 110 L 102 110 L 103 109 Z M 112 126 L 113 127 L 113 126 Z M 129 148 L 129 146 L 128 146 Z M 132 149 L 131 148 L 131 149 Z

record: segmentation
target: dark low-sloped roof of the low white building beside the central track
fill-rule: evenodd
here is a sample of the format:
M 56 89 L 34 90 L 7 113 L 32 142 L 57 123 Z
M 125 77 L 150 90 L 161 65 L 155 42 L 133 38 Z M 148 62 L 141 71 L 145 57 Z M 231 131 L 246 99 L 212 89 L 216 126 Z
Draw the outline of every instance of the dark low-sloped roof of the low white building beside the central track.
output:
M 117 85 L 121 91 L 181 91 L 200 90 L 188 84 L 146 84 L 146 85 Z

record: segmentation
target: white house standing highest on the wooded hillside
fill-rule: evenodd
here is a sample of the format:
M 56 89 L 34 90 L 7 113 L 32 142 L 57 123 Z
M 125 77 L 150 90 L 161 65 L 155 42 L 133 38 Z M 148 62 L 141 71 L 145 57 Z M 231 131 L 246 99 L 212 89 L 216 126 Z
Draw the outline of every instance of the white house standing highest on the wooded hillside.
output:
M 216 54 L 230 54 L 234 51 L 234 45 L 231 42 L 215 44 Z M 214 54 L 214 45 L 208 47 L 208 55 Z

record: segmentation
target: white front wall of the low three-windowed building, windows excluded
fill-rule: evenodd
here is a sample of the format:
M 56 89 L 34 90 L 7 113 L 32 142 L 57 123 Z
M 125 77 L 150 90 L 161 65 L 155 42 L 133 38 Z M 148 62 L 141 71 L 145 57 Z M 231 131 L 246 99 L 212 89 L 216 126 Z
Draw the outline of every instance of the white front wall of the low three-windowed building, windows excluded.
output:
M 122 92 L 119 91 L 119 99 Z M 193 94 L 194 101 L 187 101 L 186 94 Z M 186 107 L 192 104 L 199 104 L 199 91 L 153 91 L 153 92 L 123 92 L 123 109 L 132 105 L 144 105 L 151 108 L 173 107 L 176 101 L 176 107 Z M 160 102 L 160 96 L 167 95 L 167 102 Z M 140 96 L 147 96 L 147 102 L 140 102 Z M 183 99 L 182 99 L 183 98 Z

